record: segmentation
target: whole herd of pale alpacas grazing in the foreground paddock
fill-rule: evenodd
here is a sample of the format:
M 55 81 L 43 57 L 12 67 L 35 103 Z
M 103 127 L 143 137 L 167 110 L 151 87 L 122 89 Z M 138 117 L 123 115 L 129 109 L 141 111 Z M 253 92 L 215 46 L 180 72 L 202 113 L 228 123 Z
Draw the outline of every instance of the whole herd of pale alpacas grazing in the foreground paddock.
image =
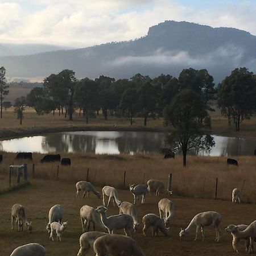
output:
M 96 188 L 92 183 L 88 181 L 79 181 L 76 183 L 77 197 L 80 197 L 80 193 L 85 197 L 86 193 L 92 192 L 94 195 L 101 198 L 100 192 L 96 191 Z M 133 240 L 133 233 L 136 232 L 139 221 L 137 218 L 136 204 L 139 202 L 139 196 L 142 196 L 141 203 L 145 203 L 145 197 L 147 193 L 155 193 L 155 195 L 172 195 L 172 191 L 168 191 L 164 187 L 164 184 L 160 180 L 151 179 L 147 181 L 147 185 L 130 185 L 130 192 L 133 193 L 134 203 L 123 201 L 118 199 L 117 189 L 105 186 L 102 188 L 103 205 L 98 206 L 96 209 L 89 205 L 84 205 L 80 209 L 80 218 L 82 224 L 82 232 L 80 236 L 80 250 L 77 256 L 84 256 L 90 249 L 94 250 L 96 256 L 144 256 L 141 247 Z M 235 188 L 232 192 L 232 202 L 240 203 L 241 192 Z M 113 205 L 117 204 L 119 207 L 119 214 L 113 216 L 107 216 L 106 212 L 108 208 L 105 207 L 105 197 L 109 197 L 109 206 L 111 199 Z M 163 198 L 158 203 L 159 216 L 156 214 L 148 213 L 142 218 L 143 234 L 147 236 L 147 230 L 151 229 L 152 236 L 158 236 L 158 232 L 162 232 L 165 236 L 168 236 L 168 230 L 170 223 L 174 217 L 175 206 L 171 200 Z M 47 232 L 49 233 L 49 239 L 54 241 L 53 237 L 56 234 L 56 241 L 61 241 L 61 237 L 68 226 L 68 222 L 62 222 L 64 209 L 61 205 L 54 205 L 49 210 L 49 221 L 46 224 Z M 18 231 L 23 230 L 23 225 L 26 225 L 27 231 L 31 233 L 32 225 L 27 220 L 26 209 L 23 205 L 14 204 L 11 209 L 11 228 L 13 229 L 13 222 L 15 221 Z M 220 240 L 220 223 L 221 214 L 218 212 L 201 212 L 196 214 L 192 218 L 191 222 L 185 229 L 181 229 L 179 236 L 180 240 L 187 236 L 191 231 L 192 226 L 196 226 L 196 237 L 201 232 L 202 238 L 205 237 L 205 227 L 213 225 L 216 230 L 215 240 Z M 89 232 L 90 225 L 93 225 L 93 232 Z M 101 230 L 101 232 L 95 231 L 95 226 Z M 122 230 L 126 236 L 113 234 L 116 230 Z M 237 250 L 237 243 L 243 239 L 246 240 L 246 252 L 251 253 L 253 251 L 253 242 L 256 241 L 256 221 L 247 225 L 229 225 L 226 232 L 230 232 L 233 236 L 232 246 L 235 251 Z M 46 255 L 46 249 L 39 243 L 28 243 L 27 245 L 17 247 L 10 256 L 44 256 Z

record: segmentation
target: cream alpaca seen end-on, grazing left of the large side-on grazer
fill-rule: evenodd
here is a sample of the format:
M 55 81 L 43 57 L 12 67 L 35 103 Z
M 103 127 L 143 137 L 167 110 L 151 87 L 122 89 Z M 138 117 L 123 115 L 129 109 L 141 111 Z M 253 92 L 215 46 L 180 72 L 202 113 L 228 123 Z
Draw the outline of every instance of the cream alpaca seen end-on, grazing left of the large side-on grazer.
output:
M 160 218 L 164 220 L 166 227 L 170 225 L 172 218 L 174 217 L 174 203 L 167 198 L 163 198 L 158 203 Z

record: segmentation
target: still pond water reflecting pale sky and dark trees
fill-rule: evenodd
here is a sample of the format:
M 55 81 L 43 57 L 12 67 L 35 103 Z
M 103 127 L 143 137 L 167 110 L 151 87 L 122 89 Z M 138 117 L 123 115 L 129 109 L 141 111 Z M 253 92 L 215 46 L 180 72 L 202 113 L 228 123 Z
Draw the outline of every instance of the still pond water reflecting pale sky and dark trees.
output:
M 253 155 L 256 149 L 256 140 L 213 137 L 216 144 L 211 156 Z M 135 154 L 159 152 L 164 147 L 163 133 L 143 131 L 74 131 L 0 141 L 0 151 L 6 152 Z

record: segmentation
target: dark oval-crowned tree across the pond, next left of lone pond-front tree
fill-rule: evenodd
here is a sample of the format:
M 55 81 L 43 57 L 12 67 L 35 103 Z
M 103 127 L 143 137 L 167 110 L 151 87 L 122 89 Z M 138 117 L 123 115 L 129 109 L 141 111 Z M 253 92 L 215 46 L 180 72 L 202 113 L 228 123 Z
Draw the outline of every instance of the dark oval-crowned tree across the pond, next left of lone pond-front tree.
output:
M 147 126 L 147 118 L 151 114 L 154 116 L 156 112 L 156 88 L 147 82 L 138 90 L 138 109 L 144 117 L 144 126 Z

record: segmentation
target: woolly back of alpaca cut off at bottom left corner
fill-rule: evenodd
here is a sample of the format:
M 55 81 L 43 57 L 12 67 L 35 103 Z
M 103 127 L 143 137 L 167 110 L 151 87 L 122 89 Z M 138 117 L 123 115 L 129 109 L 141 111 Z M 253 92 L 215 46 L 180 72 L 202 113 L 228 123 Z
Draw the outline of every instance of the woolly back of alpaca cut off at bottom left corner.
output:
M 17 247 L 10 256 L 45 256 L 46 250 L 39 243 L 28 243 Z

